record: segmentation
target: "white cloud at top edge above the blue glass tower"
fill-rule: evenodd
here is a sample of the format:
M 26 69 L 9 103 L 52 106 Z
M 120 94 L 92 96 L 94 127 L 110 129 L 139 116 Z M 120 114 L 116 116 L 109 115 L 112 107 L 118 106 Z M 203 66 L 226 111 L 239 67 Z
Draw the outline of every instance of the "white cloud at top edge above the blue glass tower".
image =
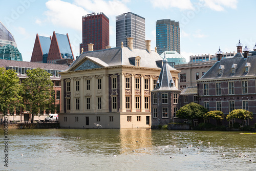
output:
M 151 0 L 150 1 L 154 7 L 158 8 L 179 8 L 181 10 L 193 9 L 193 4 L 190 0 Z

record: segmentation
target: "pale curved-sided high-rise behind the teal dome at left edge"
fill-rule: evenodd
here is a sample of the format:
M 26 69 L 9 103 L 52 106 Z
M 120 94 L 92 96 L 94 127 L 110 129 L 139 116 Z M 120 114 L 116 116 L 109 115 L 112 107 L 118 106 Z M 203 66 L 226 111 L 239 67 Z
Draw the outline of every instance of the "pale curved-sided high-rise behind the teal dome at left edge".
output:
M 0 47 L 5 45 L 12 45 L 17 48 L 17 44 L 12 33 L 0 21 Z

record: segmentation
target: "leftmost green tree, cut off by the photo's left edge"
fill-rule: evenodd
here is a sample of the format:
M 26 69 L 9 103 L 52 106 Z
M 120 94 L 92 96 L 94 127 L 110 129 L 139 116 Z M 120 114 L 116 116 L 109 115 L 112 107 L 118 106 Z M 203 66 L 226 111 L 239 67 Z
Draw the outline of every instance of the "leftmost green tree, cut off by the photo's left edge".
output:
M 15 109 L 23 106 L 19 78 L 14 70 L 0 68 L 0 112 L 13 115 Z

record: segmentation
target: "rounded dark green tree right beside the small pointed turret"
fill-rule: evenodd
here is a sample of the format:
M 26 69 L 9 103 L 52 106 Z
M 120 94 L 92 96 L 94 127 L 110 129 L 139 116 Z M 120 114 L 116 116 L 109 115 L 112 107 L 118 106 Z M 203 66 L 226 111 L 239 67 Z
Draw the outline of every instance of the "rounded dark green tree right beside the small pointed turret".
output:
M 208 112 L 208 110 L 202 105 L 192 102 L 182 106 L 180 110 L 177 111 L 176 116 L 181 119 L 193 120 L 202 118 L 206 112 Z

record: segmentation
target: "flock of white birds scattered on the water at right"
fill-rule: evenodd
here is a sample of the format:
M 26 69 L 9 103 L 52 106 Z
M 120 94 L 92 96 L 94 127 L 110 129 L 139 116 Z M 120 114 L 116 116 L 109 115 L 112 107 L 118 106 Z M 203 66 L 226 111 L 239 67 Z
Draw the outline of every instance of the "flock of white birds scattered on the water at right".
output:
M 139 141 L 137 140 L 136 141 L 136 143 L 139 143 Z M 222 147 L 224 146 L 224 145 L 222 145 L 222 146 L 220 146 L 220 145 L 217 145 L 217 146 L 210 146 L 210 142 L 207 142 L 207 145 L 204 145 L 203 144 L 204 143 L 204 141 L 201 141 L 201 140 L 198 140 L 198 145 L 196 145 L 196 146 L 193 146 L 192 144 L 191 145 L 188 145 L 188 146 L 186 146 L 186 147 L 177 147 L 175 144 L 174 145 L 166 145 L 166 146 L 156 146 L 158 149 L 161 149 L 162 151 L 164 151 L 164 150 L 166 150 L 166 149 L 170 149 L 170 148 L 173 148 L 175 151 L 176 150 L 178 150 L 178 151 L 183 151 L 183 149 L 185 148 L 185 149 L 188 149 L 188 148 L 191 148 L 191 149 L 193 149 L 193 151 L 197 151 L 197 154 L 200 154 L 201 152 L 200 152 L 200 150 L 201 149 L 212 149 L 211 150 L 211 152 L 213 152 L 213 153 L 218 153 L 218 154 L 221 154 L 222 156 L 226 156 L 226 154 L 222 151 Z M 125 149 L 127 149 L 126 147 L 125 147 Z M 146 148 L 143 148 L 143 150 L 145 151 L 146 150 Z M 135 149 L 132 149 L 132 152 L 135 152 Z M 150 150 L 150 152 L 152 152 L 152 150 Z M 226 152 L 226 153 L 229 153 L 229 152 Z M 236 149 L 232 149 L 232 152 L 230 152 L 230 153 L 232 153 L 232 154 L 235 154 L 235 155 L 237 155 L 237 157 L 240 157 L 240 158 L 249 158 L 249 156 L 248 155 L 244 155 L 243 153 L 239 153 L 239 154 L 237 154 L 236 153 Z M 230 154 L 229 153 L 229 154 Z M 184 154 L 185 156 L 188 156 L 188 154 Z M 113 155 L 113 157 L 117 157 L 117 155 Z M 175 156 L 169 156 L 169 158 L 171 158 L 171 159 L 173 159 L 173 158 L 175 158 Z M 253 160 L 252 159 L 249 159 L 249 161 L 250 162 L 253 162 Z

